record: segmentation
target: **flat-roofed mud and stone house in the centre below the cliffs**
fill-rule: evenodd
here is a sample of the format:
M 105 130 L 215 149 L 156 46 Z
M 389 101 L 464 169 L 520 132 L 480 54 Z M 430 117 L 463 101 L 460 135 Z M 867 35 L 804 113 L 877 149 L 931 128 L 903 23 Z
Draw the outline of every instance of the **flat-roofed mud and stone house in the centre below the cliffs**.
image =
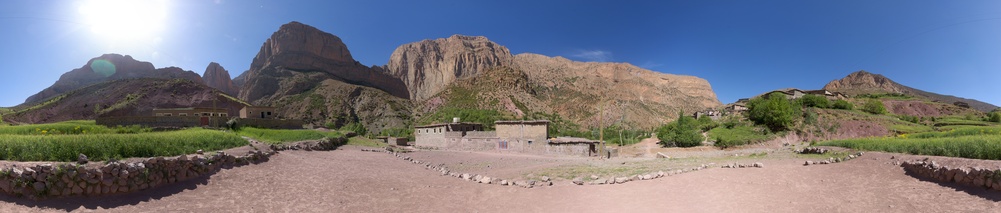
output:
M 597 141 L 582 138 L 549 138 L 550 121 L 496 121 L 495 131 L 478 123 L 453 122 L 414 127 L 418 148 L 518 152 L 530 154 L 594 156 Z

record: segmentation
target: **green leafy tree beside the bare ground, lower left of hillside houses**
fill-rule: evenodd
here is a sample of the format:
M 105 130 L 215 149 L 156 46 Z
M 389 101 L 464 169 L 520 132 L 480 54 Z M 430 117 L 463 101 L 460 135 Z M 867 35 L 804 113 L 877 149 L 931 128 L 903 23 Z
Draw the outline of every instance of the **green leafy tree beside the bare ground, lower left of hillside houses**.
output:
M 678 114 L 678 120 L 661 126 L 657 130 L 657 138 L 666 146 L 678 147 L 699 146 L 703 141 L 698 121 L 686 116 L 684 111 Z

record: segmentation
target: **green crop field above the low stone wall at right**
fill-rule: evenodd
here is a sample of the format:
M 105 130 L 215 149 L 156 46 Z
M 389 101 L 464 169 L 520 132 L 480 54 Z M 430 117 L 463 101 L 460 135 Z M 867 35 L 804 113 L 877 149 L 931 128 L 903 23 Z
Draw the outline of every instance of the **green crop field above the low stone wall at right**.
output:
M 859 150 L 1001 160 L 1001 127 L 960 127 L 949 131 L 821 142 Z

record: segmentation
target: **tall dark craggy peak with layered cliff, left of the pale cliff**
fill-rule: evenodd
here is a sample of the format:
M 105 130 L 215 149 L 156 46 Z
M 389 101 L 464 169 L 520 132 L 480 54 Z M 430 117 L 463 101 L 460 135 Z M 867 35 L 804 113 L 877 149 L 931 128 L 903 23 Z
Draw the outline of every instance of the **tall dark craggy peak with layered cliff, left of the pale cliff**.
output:
M 274 32 L 234 81 L 240 99 L 315 125 L 361 123 L 377 133 L 410 123 L 402 81 L 354 61 L 340 38 L 298 22 Z

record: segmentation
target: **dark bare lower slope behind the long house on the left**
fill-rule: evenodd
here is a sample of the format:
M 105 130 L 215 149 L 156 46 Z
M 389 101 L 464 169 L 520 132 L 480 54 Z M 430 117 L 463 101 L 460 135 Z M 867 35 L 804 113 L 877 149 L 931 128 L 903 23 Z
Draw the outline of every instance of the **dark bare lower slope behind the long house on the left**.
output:
M 135 78 L 105 81 L 63 93 L 3 116 L 11 123 L 91 120 L 98 116 L 148 116 L 153 108 L 219 107 L 231 115 L 245 104 L 187 79 Z

